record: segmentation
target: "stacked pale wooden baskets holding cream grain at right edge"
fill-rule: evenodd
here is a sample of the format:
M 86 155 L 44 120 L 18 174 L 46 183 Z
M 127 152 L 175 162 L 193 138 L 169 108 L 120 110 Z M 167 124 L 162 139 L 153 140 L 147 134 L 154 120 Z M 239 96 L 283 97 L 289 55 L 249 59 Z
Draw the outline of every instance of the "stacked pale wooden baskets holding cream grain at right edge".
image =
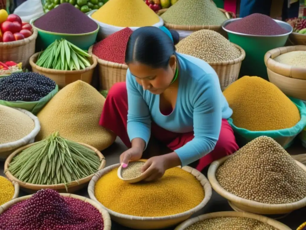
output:
M 264 57 L 269 81 L 288 96 L 306 100 L 306 67 L 293 67 L 277 61 L 277 56 L 292 52 L 306 51 L 306 46 L 286 46 L 268 51 Z

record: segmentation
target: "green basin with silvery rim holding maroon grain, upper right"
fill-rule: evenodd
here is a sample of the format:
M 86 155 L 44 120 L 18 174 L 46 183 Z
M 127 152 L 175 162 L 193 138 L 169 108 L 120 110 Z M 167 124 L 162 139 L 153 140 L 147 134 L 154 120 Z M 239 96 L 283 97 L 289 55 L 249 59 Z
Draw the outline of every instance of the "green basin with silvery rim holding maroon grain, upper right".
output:
M 240 19 L 229 19 L 222 24 L 222 29 L 227 32 L 230 42 L 239 45 L 245 51 L 245 59 L 242 61 L 239 76 L 259 76 L 268 80 L 264 56 L 271 49 L 285 46 L 289 34 L 292 33 L 292 27 L 284 21 L 274 20 L 288 31 L 288 33 L 274 36 L 249 35 L 225 29 L 226 25 Z

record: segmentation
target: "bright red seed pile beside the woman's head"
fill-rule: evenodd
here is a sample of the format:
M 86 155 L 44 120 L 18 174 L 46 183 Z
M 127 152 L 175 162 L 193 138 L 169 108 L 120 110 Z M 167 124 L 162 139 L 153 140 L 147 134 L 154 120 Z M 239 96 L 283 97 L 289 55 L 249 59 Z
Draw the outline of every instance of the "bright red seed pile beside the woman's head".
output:
M 114 63 L 125 63 L 126 44 L 133 31 L 127 27 L 98 42 L 92 53 L 100 59 Z

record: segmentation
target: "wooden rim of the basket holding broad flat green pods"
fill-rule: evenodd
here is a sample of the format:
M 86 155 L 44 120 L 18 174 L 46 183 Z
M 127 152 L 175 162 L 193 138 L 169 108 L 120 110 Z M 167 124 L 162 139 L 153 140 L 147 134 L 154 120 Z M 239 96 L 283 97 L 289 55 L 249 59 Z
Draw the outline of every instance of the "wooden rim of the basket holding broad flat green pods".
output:
M 42 51 L 41 51 L 42 52 Z M 35 58 L 37 58 L 37 56 L 41 53 L 41 52 L 37 52 L 35 54 L 33 54 L 31 57 L 30 57 L 30 65 L 32 68 L 36 68 L 37 70 L 39 71 L 42 71 L 42 72 L 45 72 L 45 73 L 50 73 L 50 74 L 81 74 L 81 73 L 85 73 L 87 71 L 90 71 L 92 69 L 94 69 L 98 62 L 97 62 L 97 59 L 95 58 L 95 56 L 91 55 L 91 58 L 93 63 L 89 66 L 89 67 L 86 67 L 85 69 L 82 69 L 82 70 L 54 70 L 54 69 L 49 69 L 49 68 L 45 68 L 45 67 L 40 67 L 38 65 L 36 65 L 36 62 L 34 62 Z

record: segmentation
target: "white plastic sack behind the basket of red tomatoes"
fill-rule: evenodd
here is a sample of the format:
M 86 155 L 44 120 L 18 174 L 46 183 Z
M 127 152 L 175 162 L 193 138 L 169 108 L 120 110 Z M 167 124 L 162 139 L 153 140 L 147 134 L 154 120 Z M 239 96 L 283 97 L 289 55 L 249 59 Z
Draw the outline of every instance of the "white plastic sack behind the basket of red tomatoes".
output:
M 14 14 L 21 17 L 24 22 L 30 22 L 34 17 L 40 17 L 44 14 L 41 0 L 27 0 L 14 10 Z

